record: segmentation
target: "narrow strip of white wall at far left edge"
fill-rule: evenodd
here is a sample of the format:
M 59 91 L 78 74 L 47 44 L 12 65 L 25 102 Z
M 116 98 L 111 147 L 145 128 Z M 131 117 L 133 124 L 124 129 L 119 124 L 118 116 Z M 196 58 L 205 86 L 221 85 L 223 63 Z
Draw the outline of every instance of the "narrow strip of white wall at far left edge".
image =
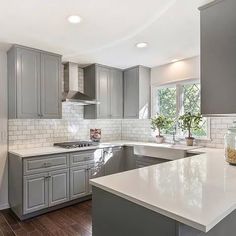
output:
M 7 55 L 0 50 L 0 209 L 8 207 Z

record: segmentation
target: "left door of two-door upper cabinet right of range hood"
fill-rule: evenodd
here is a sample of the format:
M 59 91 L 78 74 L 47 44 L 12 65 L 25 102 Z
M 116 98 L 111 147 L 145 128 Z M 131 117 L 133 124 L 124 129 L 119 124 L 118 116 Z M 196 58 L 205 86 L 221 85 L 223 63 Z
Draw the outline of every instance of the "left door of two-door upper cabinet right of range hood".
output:
M 110 118 L 110 69 L 97 67 L 97 118 Z

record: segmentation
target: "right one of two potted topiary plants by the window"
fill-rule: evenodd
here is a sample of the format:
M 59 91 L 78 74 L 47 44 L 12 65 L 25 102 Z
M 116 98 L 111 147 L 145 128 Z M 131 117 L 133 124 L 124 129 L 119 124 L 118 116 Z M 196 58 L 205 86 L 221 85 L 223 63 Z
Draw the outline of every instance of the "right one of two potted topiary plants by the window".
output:
M 191 114 L 186 112 L 184 115 L 179 117 L 179 127 L 182 131 L 187 131 L 188 136 L 186 139 L 187 146 L 193 146 L 194 138 L 192 137 L 192 131 L 199 130 L 200 123 L 202 122 L 202 116 L 200 114 Z

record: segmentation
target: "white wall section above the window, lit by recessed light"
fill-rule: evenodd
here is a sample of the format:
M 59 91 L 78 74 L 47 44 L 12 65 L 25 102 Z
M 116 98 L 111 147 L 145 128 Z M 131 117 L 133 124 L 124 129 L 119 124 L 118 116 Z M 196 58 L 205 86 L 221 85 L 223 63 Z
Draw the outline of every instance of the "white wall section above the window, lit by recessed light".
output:
M 178 62 L 153 67 L 151 70 L 151 84 L 162 85 L 200 78 L 200 57 L 192 57 Z

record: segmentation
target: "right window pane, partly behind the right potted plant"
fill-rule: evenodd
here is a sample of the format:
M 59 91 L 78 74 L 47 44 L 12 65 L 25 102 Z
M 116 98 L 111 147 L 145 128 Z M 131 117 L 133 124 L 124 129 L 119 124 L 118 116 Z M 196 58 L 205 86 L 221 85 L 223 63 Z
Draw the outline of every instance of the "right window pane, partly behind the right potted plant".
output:
M 192 114 L 200 113 L 200 84 L 183 85 L 183 113 L 191 112 Z M 193 131 L 194 136 L 207 135 L 207 120 L 203 118 L 201 129 Z

